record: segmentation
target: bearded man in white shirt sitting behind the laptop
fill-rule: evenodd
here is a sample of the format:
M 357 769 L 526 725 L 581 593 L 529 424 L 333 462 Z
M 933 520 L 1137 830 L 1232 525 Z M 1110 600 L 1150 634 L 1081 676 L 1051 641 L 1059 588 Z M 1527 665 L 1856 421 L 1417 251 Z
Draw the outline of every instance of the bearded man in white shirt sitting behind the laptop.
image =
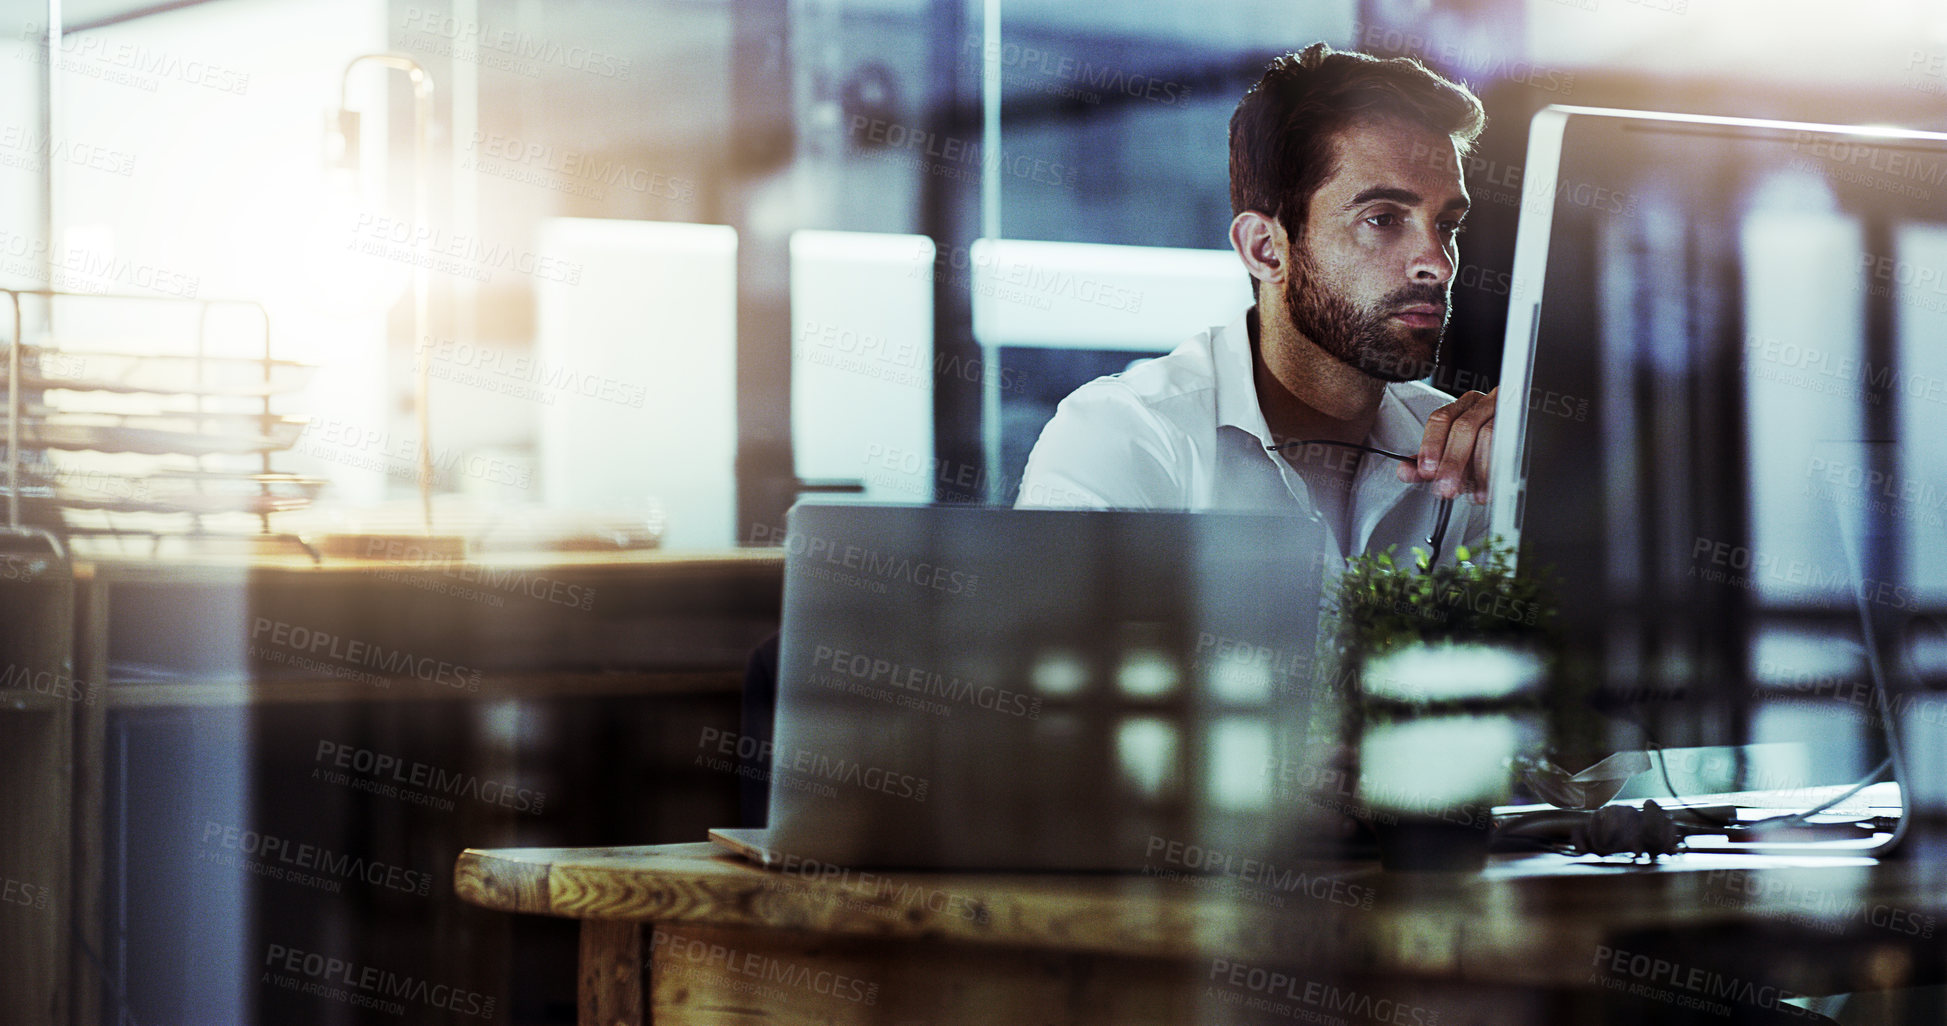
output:
M 1441 500 L 1466 495 L 1441 533 L 1478 541 L 1493 393 L 1417 378 L 1447 327 L 1460 158 L 1484 125 L 1466 88 L 1412 58 L 1318 43 L 1273 60 L 1231 117 L 1231 245 L 1258 304 L 1063 399 L 1016 504 L 1293 510 L 1351 555 L 1423 545 Z

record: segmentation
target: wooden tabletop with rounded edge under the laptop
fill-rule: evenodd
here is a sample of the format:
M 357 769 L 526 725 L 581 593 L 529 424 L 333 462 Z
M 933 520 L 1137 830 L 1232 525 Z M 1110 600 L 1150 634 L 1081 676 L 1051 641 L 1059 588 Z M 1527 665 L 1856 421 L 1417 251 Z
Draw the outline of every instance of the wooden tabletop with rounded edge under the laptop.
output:
M 1266 882 L 1271 880 L 1271 882 Z M 1269 878 L 773 872 L 709 843 L 465 851 L 475 905 L 1137 958 L 1587 985 L 1632 938 L 1737 934 L 1711 971 L 1844 993 L 1947 979 L 1939 861 L 1688 855 L 1663 866 L 1497 857 L 1482 874 L 1275 866 Z M 1698 956 L 1702 958 L 1702 956 Z

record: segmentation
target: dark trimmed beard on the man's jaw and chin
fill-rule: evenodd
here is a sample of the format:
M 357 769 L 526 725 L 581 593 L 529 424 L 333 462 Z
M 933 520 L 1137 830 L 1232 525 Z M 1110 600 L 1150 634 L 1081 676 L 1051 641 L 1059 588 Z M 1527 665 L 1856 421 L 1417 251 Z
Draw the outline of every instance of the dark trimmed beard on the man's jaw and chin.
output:
M 1441 304 L 1439 284 L 1402 284 L 1369 308 L 1355 306 L 1318 275 L 1312 249 L 1293 243 L 1293 273 L 1285 276 L 1285 311 L 1301 335 L 1332 358 L 1380 382 L 1414 382 L 1433 372 L 1447 317 L 1435 327 L 1406 327 L 1392 315 L 1408 306 Z

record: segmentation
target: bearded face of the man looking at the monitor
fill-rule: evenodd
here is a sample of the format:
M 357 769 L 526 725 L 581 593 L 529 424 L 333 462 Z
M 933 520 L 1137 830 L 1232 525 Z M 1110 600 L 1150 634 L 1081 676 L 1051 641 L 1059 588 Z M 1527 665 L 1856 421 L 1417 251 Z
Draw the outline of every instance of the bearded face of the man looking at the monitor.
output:
M 1304 236 L 1291 243 L 1285 310 L 1318 348 L 1373 378 L 1425 378 L 1468 210 L 1452 140 L 1359 123 L 1340 132 L 1338 152 L 1338 173 L 1312 193 Z

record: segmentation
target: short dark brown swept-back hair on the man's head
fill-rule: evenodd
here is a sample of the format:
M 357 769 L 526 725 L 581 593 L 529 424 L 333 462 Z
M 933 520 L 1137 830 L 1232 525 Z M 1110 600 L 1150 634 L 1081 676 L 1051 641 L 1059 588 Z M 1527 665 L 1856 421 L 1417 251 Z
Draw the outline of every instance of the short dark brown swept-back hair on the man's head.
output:
M 1312 43 L 1271 60 L 1231 115 L 1231 216 L 1273 216 L 1297 241 L 1312 193 L 1338 171 L 1340 132 L 1373 119 L 1421 125 L 1452 138 L 1460 156 L 1488 125 L 1466 86 L 1412 56 L 1380 60 Z

